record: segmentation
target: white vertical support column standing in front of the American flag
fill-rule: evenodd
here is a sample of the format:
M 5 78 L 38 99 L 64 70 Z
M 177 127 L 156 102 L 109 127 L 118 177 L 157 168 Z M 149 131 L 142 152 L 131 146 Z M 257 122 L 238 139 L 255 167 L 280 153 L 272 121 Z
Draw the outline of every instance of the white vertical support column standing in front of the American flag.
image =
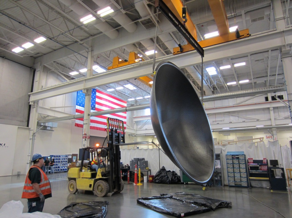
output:
M 90 40 L 92 44 L 92 39 Z M 87 72 L 86 78 L 93 75 L 93 47 L 88 50 L 87 56 Z M 82 148 L 89 146 L 90 138 L 90 114 L 91 114 L 91 88 L 83 90 L 85 93 L 85 105 L 84 105 L 84 119 L 83 119 L 83 135 L 82 135 Z

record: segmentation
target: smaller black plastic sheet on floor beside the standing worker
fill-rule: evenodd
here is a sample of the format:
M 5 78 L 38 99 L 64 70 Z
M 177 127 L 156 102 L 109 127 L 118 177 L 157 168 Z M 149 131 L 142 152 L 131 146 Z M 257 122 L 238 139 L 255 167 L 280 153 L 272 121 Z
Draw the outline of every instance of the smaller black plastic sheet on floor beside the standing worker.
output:
M 108 201 L 74 202 L 63 208 L 58 215 L 62 218 L 104 218 Z

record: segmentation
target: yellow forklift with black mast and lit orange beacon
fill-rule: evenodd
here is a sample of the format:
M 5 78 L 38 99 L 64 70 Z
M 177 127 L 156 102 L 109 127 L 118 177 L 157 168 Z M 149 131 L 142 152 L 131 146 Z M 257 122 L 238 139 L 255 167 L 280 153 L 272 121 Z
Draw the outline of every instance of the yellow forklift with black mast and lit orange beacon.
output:
M 70 168 L 68 171 L 68 190 L 75 194 L 78 190 L 93 191 L 98 197 L 106 196 L 108 193 L 119 193 L 124 189 L 124 181 L 121 179 L 121 152 L 120 145 L 129 145 L 134 143 L 125 143 L 124 122 L 115 118 L 107 118 L 107 147 L 86 147 L 83 148 L 83 154 L 80 167 Z M 97 156 L 97 162 L 100 165 L 100 155 L 106 158 L 107 166 L 99 167 L 96 172 L 91 168 L 91 161 Z M 91 153 L 91 161 L 84 162 L 85 152 Z

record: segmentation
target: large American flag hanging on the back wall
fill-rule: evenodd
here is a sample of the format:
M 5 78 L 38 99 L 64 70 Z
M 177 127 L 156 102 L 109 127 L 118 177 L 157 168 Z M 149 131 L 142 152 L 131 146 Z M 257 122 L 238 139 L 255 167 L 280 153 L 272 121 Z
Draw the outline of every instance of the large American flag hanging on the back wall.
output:
M 84 114 L 84 105 L 85 94 L 82 93 L 82 91 L 77 91 L 76 114 Z M 121 107 L 127 107 L 127 102 L 100 90 L 96 90 L 95 88 L 92 89 L 91 113 L 95 111 L 104 111 Z M 92 116 L 90 118 L 90 129 L 104 131 L 107 126 L 107 117 L 123 120 L 126 129 L 127 112 L 106 114 L 94 117 Z M 75 121 L 75 126 L 83 127 L 83 118 L 77 118 Z

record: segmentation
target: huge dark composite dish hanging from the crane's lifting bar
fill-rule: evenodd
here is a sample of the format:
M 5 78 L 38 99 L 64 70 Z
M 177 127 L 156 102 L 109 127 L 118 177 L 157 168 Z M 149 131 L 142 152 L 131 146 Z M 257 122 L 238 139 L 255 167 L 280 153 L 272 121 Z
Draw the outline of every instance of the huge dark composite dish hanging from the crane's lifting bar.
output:
M 166 155 L 192 181 L 208 182 L 215 167 L 209 121 L 193 85 L 171 62 L 161 62 L 156 68 L 150 109 L 154 132 Z

